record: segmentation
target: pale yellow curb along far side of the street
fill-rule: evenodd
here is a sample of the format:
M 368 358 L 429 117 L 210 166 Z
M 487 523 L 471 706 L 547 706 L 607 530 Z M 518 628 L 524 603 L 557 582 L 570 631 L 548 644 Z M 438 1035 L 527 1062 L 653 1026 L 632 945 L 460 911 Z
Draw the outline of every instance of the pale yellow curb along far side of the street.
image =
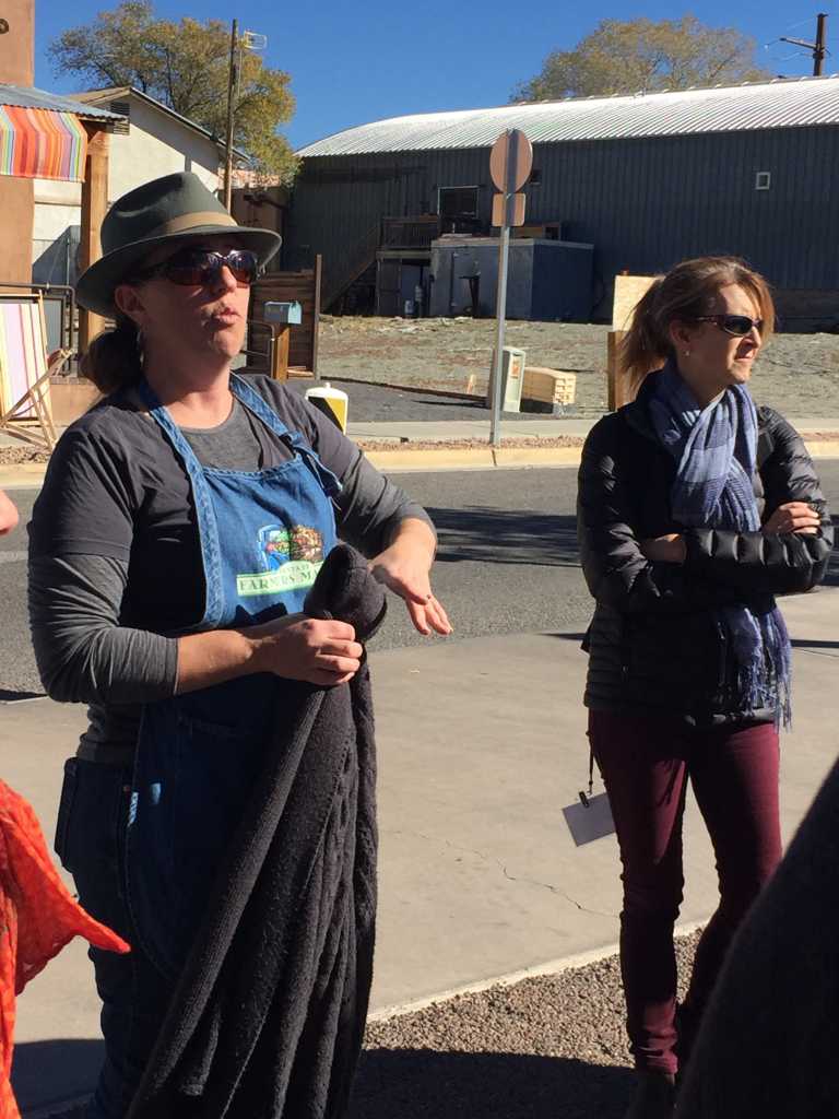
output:
M 839 440 L 804 440 L 812 459 L 839 459 Z M 515 470 L 526 468 L 578 467 L 581 446 L 500 446 L 432 448 L 422 451 L 368 451 L 367 459 L 385 473 L 412 473 L 435 470 Z M 46 462 L 0 466 L 0 489 L 39 489 Z

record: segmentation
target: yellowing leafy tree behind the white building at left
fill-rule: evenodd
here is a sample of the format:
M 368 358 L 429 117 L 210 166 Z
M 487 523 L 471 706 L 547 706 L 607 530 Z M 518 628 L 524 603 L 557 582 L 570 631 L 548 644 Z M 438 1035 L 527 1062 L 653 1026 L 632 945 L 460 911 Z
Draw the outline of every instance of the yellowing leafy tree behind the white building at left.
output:
M 151 0 L 124 0 L 48 47 L 57 74 L 95 85 L 132 85 L 224 140 L 230 29 L 217 19 L 157 19 Z M 263 177 L 290 179 L 296 160 L 279 133 L 294 113 L 290 77 L 242 50 L 236 101 L 237 148 Z

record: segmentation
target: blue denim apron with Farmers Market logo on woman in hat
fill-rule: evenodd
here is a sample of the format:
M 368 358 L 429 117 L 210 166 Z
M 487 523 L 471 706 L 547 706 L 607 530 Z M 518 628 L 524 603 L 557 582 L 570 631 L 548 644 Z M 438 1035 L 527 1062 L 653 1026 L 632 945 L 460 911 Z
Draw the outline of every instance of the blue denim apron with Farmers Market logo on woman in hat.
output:
M 202 467 L 150 386 L 139 388 L 191 485 L 206 599 L 189 632 L 301 611 L 336 543 L 330 498 L 340 490 L 338 479 L 244 380 L 233 376 L 230 389 L 285 443 L 290 461 L 255 471 Z M 186 958 L 292 686 L 251 675 L 143 709 L 126 881 L 135 937 L 166 975 Z

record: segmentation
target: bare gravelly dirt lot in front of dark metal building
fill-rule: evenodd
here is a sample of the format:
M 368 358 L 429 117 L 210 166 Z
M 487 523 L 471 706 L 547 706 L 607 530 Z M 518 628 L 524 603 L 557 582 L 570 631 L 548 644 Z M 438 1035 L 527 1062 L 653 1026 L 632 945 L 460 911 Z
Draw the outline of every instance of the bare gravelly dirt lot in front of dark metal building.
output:
M 577 375 L 577 405 L 606 405 L 606 327 L 510 322 L 506 342 L 527 350 L 528 365 Z M 324 377 L 483 393 L 494 344 L 491 319 L 321 319 L 319 369 Z M 789 417 L 839 417 L 839 336 L 777 335 L 755 365 L 753 392 Z

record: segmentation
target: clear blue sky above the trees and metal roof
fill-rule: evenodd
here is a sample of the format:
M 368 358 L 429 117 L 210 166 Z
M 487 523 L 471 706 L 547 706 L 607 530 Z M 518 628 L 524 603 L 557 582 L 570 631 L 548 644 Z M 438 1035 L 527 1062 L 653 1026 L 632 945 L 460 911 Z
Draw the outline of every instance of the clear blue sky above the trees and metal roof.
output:
M 51 73 L 46 46 L 66 27 L 88 22 L 109 7 L 115 3 L 36 0 L 37 86 L 77 88 L 77 81 Z M 292 76 L 298 109 L 285 132 L 295 148 L 383 116 L 505 104 L 517 82 L 538 73 L 545 55 L 573 47 L 605 18 L 666 19 L 690 11 L 722 27 L 730 26 L 736 13 L 735 26 L 758 44 L 757 59 L 775 74 L 792 76 L 811 73 L 812 59 L 777 39 L 812 39 L 816 12 L 824 11 L 830 17 L 828 46 L 837 45 L 824 70 L 839 72 L 839 0 L 817 0 L 812 9 L 800 0 L 741 0 L 736 6 L 713 0 L 680 9 L 664 0 L 602 0 L 596 15 L 587 15 L 585 7 L 572 11 L 556 0 L 238 0 L 235 7 L 226 0 L 158 0 L 155 11 L 170 19 L 227 21 L 236 16 L 243 29 L 267 35 L 268 65 Z

